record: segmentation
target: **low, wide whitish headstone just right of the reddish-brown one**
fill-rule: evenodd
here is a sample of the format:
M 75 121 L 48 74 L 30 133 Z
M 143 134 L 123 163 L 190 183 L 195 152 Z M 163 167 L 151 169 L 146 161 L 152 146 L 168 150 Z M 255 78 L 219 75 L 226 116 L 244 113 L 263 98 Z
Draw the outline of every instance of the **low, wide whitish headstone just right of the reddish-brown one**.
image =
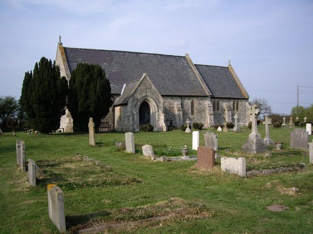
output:
M 222 157 L 221 169 L 223 172 L 237 174 L 238 176 L 246 176 L 246 158 L 245 157 Z

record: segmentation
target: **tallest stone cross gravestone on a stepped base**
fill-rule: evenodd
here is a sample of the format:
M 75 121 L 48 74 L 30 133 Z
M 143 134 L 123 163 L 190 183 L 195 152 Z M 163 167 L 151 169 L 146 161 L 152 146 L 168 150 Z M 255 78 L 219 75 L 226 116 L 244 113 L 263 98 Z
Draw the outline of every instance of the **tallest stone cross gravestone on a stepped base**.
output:
M 243 145 L 243 149 L 252 154 L 258 154 L 267 150 L 264 140 L 258 134 L 257 117 L 260 110 L 257 108 L 256 104 L 253 104 L 249 110 L 249 114 L 252 119 L 251 133 L 246 139 L 246 144 Z

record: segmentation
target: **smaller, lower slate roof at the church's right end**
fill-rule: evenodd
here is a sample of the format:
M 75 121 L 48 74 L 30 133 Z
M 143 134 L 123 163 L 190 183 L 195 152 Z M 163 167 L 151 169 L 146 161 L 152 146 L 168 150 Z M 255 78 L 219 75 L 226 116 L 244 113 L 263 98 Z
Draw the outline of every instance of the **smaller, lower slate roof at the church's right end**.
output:
M 202 64 L 195 64 L 195 66 L 209 88 L 211 98 L 246 99 L 228 67 Z

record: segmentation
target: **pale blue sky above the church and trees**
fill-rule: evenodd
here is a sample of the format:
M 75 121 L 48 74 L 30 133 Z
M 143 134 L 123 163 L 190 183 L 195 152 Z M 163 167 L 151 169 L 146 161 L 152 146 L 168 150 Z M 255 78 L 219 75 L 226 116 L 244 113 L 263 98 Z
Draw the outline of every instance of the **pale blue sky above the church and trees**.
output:
M 274 112 L 313 103 L 313 0 L 1 0 L 0 95 L 21 95 L 41 57 L 67 47 L 228 59 L 250 99 Z M 311 88 L 310 88 L 311 87 Z

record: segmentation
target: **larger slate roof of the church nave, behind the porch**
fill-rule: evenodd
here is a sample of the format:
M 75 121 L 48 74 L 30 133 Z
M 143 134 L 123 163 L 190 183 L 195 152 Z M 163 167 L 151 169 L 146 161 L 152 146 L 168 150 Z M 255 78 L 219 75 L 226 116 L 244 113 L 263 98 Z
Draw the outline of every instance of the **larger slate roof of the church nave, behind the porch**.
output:
M 161 95 L 207 96 L 184 56 L 70 47 L 64 47 L 64 51 L 70 72 L 79 62 L 104 68 L 112 94 L 120 94 L 125 83 L 147 73 Z

